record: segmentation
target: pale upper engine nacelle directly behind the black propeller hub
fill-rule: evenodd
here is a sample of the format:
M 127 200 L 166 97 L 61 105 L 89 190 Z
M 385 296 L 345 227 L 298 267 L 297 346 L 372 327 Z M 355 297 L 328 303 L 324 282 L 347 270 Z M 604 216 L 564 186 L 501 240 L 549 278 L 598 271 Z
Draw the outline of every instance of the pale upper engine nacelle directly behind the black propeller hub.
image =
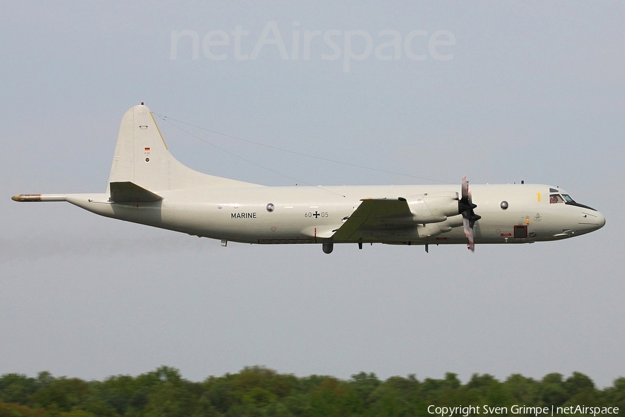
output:
M 426 193 L 406 197 L 417 223 L 444 222 L 458 215 L 458 193 Z

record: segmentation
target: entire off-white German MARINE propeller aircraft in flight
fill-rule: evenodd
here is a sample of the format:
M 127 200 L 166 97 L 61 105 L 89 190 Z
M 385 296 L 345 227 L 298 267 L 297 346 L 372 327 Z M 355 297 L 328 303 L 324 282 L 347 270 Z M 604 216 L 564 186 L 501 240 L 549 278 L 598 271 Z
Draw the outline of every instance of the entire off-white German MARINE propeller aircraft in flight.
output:
M 606 224 L 565 190 L 536 184 L 261 186 L 191 170 L 169 153 L 142 103 L 124 114 L 106 193 L 21 194 L 192 236 L 241 243 L 390 245 L 533 243 Z

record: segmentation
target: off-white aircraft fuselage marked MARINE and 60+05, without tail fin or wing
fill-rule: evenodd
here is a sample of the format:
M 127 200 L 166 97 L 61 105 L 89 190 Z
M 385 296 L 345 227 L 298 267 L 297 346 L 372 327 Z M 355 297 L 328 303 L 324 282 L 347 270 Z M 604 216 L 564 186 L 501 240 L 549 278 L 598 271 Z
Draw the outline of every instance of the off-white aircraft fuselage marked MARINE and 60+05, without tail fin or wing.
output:
M 397 199 L 454 193 L 457 189 L 458 186 L 213 188 L 160 193 L 160 202 L 136 204 L 110 202 L 107 194 L 65 198 L 110 218 L 194 236 L 242 243 L 323 243 L 356 210 L 363 196 Z M 535 184 L 472 185 L 473 202 L 482 216 L 475 226 L 476 243 L 559 240 L 605 224 L 603 215 L 592 208 L 550 203 L 550 189 L 553 187 Z M 558 192 L 566 194 L 563 190 Z M 502 208 L 503 202 L 507 203 L 506 208 Z M 444 226 L 451 230 L 439 233 L 436 228 Z M 358 240 L 406 245 L 465 243 L 461 226 L 461 215 L 408 228 L 401 222 L 385 222 L 368 234 L 360 231 Z

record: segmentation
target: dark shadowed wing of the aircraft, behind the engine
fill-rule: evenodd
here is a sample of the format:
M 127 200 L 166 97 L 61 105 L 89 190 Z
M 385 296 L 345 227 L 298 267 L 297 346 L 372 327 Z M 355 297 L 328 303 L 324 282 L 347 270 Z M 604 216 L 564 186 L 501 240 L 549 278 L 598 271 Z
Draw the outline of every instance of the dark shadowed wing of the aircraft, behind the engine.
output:
M 332 236 L 338 241 L 357 241 L 360 231 L 407 227 L 412 225 L 412 212 L 405 198 L 362 199 L 360 206 Z

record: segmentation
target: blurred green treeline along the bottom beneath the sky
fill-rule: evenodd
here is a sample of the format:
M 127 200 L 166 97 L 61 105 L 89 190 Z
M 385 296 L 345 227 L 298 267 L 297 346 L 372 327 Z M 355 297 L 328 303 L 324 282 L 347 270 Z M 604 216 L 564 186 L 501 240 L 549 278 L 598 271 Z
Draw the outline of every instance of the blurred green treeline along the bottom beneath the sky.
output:
M 167 366 L 137 377 L 118 375 L 103 381 L 53 377 L 47 372 L 35 378 L 19 374 L 0 377 L 0 417 L 435 417 L 428 413 L 428 406 L 485 404 L 619 407 L 619 415 L 625 415 L 625 378 L 597 389 L 581 373 L 567 378 L 551 373 L 541 380 L 516 374 L 503 382 L 475 374 L 462 384 L 453 373 L 444 379 L 422 381 L 414 375 L 381 381 L 373 373 L 359 373 L 346 381 L 251 367 L 191 382 Z

